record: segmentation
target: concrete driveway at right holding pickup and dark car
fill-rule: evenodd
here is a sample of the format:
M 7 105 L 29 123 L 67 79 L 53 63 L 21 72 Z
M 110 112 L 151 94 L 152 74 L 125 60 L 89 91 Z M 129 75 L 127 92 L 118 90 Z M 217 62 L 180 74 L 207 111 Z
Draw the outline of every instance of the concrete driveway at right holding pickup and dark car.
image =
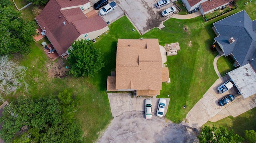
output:
M 231 88 L 224 94 L 218 93 L 216 90 L 218 86 L 229 79 L 230 77 L 228 75 L 218 78 L 204 94 L 203 98 L 188 112 L 182 124 L 198 129 L 207 121 L 216 122 L 228 116 L 236 117 L 256 107 L 256 95 L 244 99 L 238 94 L 236 87 Z M 219 106 L 218 100 L 227 94 L 235 95 L 235 100 L 225 106 Z

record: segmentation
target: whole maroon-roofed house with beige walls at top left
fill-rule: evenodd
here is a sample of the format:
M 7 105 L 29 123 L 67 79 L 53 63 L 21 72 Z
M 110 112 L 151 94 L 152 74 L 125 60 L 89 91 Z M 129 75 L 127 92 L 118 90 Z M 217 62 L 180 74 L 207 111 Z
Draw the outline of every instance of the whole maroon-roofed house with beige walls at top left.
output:
M 71 43 L 91 40 L 108 30 L 108 24 L 92 10 L 89 0 L 50 0 L 35 20 L 59 56 L 68 55 Z

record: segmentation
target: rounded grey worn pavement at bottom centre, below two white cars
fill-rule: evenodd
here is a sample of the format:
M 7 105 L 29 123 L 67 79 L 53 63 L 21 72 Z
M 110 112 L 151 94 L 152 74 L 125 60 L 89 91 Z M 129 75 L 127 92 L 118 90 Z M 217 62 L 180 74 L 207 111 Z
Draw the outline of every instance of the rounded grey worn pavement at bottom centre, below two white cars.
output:
M 143 112 L 124 112 L 115 117 L 98 143 L 198 143 L 198 130 L 165 118 L 145 119 Z

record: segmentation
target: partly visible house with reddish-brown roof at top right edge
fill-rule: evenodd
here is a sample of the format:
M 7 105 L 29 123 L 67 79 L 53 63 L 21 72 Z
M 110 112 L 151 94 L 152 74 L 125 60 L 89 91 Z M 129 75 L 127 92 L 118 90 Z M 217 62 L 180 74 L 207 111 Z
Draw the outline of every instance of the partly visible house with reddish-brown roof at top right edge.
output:
M 222 6 L 228 5 L 232 1 L 233 0 L 182 0 L 188 12 L 198 8 L 203 16 Z

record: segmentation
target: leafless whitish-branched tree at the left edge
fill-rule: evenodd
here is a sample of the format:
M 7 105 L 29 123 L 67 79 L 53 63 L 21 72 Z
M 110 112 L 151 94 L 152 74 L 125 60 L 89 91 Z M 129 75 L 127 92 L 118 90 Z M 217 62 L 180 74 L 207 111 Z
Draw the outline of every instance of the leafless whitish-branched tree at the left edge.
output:
M 26 67 L 9 61 L 8 56 L 0 57 L 0 96 L 2 93 L 15 93 L 22 84 L 24 84 L 24 89 L 28 91 L 28 84 L 24 80 L 26 70 Z

